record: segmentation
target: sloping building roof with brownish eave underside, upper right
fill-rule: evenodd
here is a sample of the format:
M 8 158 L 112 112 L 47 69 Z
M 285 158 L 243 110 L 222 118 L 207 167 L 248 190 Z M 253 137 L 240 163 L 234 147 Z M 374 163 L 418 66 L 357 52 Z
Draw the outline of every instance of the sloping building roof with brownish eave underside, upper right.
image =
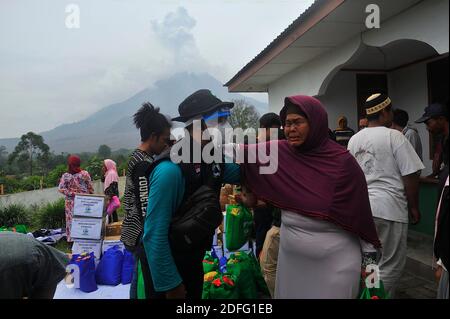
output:
M 385 21 L 420 0 L 378 0 Z M 225 86 L 230 92 L 267 92 L 270 83 L 364 32 L 373 0 L 316 0 Z

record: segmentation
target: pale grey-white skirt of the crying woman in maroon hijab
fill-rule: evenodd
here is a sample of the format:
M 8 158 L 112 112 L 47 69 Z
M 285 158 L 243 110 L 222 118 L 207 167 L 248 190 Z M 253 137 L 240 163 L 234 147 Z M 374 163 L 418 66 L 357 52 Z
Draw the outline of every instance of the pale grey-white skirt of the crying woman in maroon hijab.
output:
M 357 298 L 359 238 L 337 225 L 282 211 L 276 299 Z

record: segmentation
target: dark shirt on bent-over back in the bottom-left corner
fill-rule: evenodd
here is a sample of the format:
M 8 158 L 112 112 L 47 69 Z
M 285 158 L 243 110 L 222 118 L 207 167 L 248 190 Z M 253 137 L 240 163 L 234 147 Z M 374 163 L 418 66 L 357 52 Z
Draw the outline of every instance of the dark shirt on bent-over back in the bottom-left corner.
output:
M 66 274 L 69 258 L 33 237 L 0 232 L 0 299 L 33 298 Z

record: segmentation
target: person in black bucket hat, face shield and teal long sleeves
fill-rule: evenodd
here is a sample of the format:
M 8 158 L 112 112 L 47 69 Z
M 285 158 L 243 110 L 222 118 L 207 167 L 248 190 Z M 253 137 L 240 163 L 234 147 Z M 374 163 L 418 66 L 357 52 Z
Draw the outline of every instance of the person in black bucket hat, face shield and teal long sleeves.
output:
M 173 121 L 185 124 L 189 134 L 184 141 L 189 143 L 190 154 L 187 158 L 183 157 L 179 164 L 170 160 L 161 161 L 150 174 L 143 243 L 153 289 L 165 292 L 167 298 L 201 298 L 202 260 L 206 250 L 211 248 L 212 234 L 205 236 L 201 244 L 189 249 L 180 249 L 179 243 L 169 240 L 169 237 L 173 232 L 173 216 L 177 216 L 180 207 L 184 207 L 184 203 L 191 198 L 189 196 L 194 196 L 201 186 L 208 185 L 214 191 L 214 197 L 217 195 L 218 201 L 222 183 L 239 183 L 240 170 L 237 164 L 194 161 L 196 150 L 202 153 L 209 142 L 199 140 L 196 135 L 206 130 L 208 119 L 214 113 L 217 119 L 215 124 L 223 123 L 223 117 L 232 107 L 233 103 L 221 101 L 209 90 L 199 90 L 187 97 L 179 106 L 180 115 Z M 181 149 L 182 153 L 185 151 Z

